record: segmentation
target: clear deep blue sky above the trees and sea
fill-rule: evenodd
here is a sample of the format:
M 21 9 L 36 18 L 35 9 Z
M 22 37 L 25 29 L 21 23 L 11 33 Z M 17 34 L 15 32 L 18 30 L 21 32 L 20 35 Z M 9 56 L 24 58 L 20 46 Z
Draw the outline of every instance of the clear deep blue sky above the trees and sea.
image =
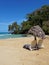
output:
M 14 21 L 20 24 L 28 13 L 43 5 L 49 5 L 49 0 L 0 0 L 0 32 L 8 31 Z

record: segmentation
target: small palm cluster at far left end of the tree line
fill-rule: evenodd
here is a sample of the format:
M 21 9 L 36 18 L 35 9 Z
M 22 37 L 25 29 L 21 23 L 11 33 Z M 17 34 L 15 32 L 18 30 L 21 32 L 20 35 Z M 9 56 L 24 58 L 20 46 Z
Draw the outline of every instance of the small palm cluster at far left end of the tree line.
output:
M 18 34 L 19 33 L 19 25 L 17 25 L 16 22 L 12 23 L 12 25 L 8 26 L 8 31 L 12 34 Z

